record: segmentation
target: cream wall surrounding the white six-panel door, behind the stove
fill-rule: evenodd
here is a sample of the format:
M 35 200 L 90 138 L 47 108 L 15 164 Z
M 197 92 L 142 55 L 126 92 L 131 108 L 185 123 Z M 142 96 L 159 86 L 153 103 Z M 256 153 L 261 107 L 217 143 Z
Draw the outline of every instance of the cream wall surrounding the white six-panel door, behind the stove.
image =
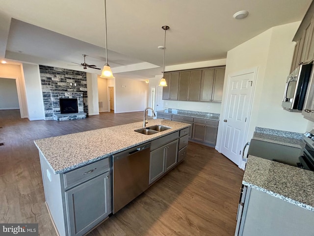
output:
M 292 38 L 300 22 L 274 27 L 228 51 L 221 104 L 220 124 L 224 119 L 224 101 L 228 76 L 258 67 L 251 119 L 246 141 L 256 126 L 303 133 L 308 120 L 300 113 L 289 113 L 281 107 L 285 83 L 292 61 L 294 43 Z M 216 148 L 219 150 L 222 125 L 218 128 Z

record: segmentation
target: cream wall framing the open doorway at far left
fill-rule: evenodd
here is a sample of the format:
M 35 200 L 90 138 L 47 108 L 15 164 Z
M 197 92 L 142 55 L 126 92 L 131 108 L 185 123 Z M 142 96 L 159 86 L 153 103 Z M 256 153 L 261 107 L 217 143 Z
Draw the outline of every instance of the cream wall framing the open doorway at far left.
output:
M 16 79 L 21 118 L 27 118 L 28 113 L 25 94 L 25 81 L 21 65 L 0 63 L 0 78 Z

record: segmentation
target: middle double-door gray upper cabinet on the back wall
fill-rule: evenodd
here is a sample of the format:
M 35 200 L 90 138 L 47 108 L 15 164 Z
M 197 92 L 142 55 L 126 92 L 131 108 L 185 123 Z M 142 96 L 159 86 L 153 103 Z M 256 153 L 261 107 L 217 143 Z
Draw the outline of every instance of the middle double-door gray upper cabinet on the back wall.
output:
M 178 100 L 198 101 L 201 77 L 202 70 L 180 72 Z

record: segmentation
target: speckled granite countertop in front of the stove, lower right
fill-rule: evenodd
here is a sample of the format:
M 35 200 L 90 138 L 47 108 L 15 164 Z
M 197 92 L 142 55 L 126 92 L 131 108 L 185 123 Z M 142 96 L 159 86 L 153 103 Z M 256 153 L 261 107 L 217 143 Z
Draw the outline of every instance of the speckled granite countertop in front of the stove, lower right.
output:
M 242 183 L 314 211 L 314 172 L 249 155 Z

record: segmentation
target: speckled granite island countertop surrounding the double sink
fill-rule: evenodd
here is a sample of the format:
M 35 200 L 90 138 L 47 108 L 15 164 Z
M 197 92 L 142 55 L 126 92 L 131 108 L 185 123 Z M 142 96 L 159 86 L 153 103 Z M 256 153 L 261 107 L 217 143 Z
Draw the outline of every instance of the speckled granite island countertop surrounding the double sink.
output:
M 53 173 L 59 174 L 190 126 L 190 124 L 164 119 L 151 119 L 146 126 L 157 124 L 169 126 L 171 129 L 144 135 L 134 131 L 143 127 L 143 121 L 140 121 L 35 140 L 34 143 L 46 158 Z

